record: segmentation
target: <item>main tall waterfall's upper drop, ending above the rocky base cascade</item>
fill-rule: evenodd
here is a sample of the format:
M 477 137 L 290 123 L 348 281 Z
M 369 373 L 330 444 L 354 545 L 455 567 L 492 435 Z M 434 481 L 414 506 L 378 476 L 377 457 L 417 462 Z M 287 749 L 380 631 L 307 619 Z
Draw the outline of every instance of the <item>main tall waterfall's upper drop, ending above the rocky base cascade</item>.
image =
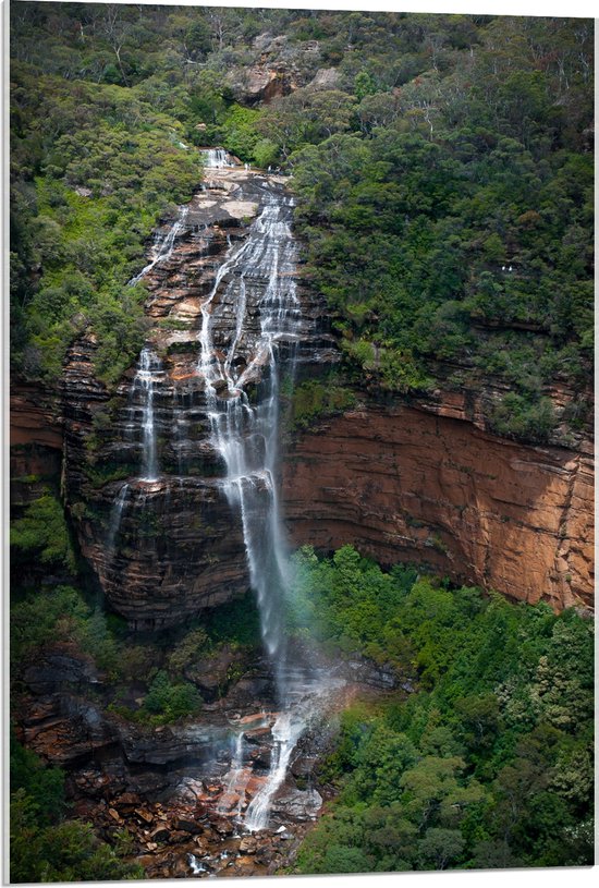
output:
M 201 306 L 198 369 L 204 377 L 212 445 L 227 465 L 224 491 L 239 509 L 254 588 L 260 611 L 265 647 L 276 667 L 277 691 L 285 696 L 284 595 L 290 585 L 288 552 L 281 532 L 277 492 L 279 443 L 279 343 L 298 339 L 301 320 L 295 280 L 295 245 L 286 216 L 289 198 L 269 195 L 267 204 L 241 247 L 232 248 L 217 272 Z M 211 337 L 211 312 L 223 282 L 221 302 L 236 305 L 235 332 L 227 357 L 219 358 Z M 266 285 L 265 285 L 266 284 Z M 253 360 L 237 375 L 233 357 L 247 330 L 246 291 L 264 289 L 260 329 Z M 258 404 L 253 406 L 244 386 L 261 376 Z

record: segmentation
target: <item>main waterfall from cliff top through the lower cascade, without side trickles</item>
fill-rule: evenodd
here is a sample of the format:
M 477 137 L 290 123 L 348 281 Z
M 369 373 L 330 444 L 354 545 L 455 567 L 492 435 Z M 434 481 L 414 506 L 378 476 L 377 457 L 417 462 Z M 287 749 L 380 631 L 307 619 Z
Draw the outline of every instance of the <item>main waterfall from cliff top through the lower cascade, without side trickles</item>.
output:
M 268 826 L 277 790 L 291 754 L 314 713 L 323 685 L 294 665 L 284 631 L 285 595 L 291 585 L 277 490 L 279 377 L 281 364 L 294 373 L 301 311 L 296 295 L 296 250 L 290 228 L 291 199 L 269 193 L 261 215 L 242 246 L 230 248 L 201 306 L 198 369 L 205 380 L 212 445 L 227 466 L 224 492 L 241 514 L 250 584 L 260 612 L 262 641 L 272 662 L 281 714 L 272 726 L 273 750 L 267 779 L 245 813 L 250 830 Z M 248 292 L 261 288 L 259 329 L 247 317 Z M 218 299 L 217 299 L 218 297 Z M 215 303 L 235 305 L 235 325 L 225 356 L 212 341 Z M 255 303 L 252 300 L 252 303 Z M 237 373 L 236 352 L 252 340 L 252 360 Z M 257 403 L 246 387 L 260 380 Z M 231 779 L 235 777 L 232 763 Z

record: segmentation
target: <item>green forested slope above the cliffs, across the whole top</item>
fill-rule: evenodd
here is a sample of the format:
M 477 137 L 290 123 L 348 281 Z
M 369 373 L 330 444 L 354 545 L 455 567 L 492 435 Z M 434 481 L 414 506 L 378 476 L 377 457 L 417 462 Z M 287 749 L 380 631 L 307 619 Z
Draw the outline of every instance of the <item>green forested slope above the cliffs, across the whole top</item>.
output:
M 294 173 L 355 381 L 496 378 L 490 427 L 534 440 L 588 419 L 589 21 L 15 2 L 12 56 L 21 374 L 56 378 L 89 329 L 119 378 L 144 240 L 199 183 L 193 146 L 225 144 Z M 297 86 L 269 104 L 248 86 L 265 59 Z

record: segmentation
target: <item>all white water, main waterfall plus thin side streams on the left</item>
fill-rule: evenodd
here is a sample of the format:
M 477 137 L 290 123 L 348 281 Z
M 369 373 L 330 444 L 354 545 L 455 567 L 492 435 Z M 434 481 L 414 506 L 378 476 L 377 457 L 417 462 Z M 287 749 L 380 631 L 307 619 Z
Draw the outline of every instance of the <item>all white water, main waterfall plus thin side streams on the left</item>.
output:
M 205 151 L 205 157 L 215 177 L 230 174 L 227 168 L 232 163 L 222 149 Z M 258 215 L 244 238 L 228 238 L 224 258 L 200 304 L 196 365 L 204 387 L 210 445 L 225 470 L 219 485 L 243 532 L 249 583 L 274 683 L 273 711 L 262 714 L 260 721 L 260 730 L 269 732 L 269 761 L 256 773 L 250 740 L 246 739 L 247 725 L 244 727 L 243 719 L 231 722 L 229 768 L 222 775 L 222 792 L 213 805 L 215 815 L 231 818 L 241 830 L 249 832 L 271 826 L 272 806 L 285 784 L 298 741 L 325 717 L 328 700 L 343 684 L 326 670 L 301 661 L 285 634 L 293 574 L 279 496 L 279 400 L 283 374 L 293 384 L 306 321 L 295 282 L 293 199 L 271 185 L 268 178 L 258 180 Z M 150 261 L 131 283 L 171 258 L 185 231 L 186 218 L 187 208 L 180 208 L 171 229 L 155 242 Z M 217 344 L 213 331 L 219 312 L 221 339 Z M 224 342 L 223 317 L 229 325 Z M 164 368 L 148 342 L 139 356 L 129 406 L 130 426 L 139 448 L 137 482 L 143 484 L 163 478 L 155 415 L 156 386 L 163 377 Z M 163 430 L 162 422 L 161 434 Z M 108 543 L 112 554 L 131 496 L 127 481 L 118 490 L 110 513 Z M 194 873 L 206 872 L 203 864 L 194 861 L 191 865 Z

